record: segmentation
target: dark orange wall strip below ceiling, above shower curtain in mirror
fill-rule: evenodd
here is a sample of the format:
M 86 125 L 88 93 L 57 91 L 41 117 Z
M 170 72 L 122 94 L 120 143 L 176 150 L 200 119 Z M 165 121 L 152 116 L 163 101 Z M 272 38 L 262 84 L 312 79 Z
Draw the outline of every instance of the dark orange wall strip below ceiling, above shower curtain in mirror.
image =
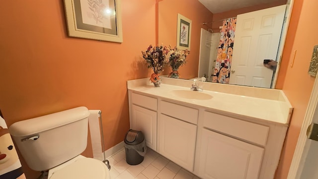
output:
M 264 9 L 264 8 L 283 5 L 283 4 L 286 4 L 286 2 L 287 2 L 287 0 L 277 0 L 274 2 L 263 3 L 263 4 L 254 5 L 254 6 L 250 6 L 250 7 L 243 7 L 243 8 L 239 8 L 239 9 L 229 10 L 226 12 L 214 13 L 213 14 L 212 29 L 215 32 L 219 32 L 220 31 L 219 27 L 223 25 L 222 19 L 236 17 L 238 14 L 252 12 L 255 10 L 260 10 L 260 9 Z

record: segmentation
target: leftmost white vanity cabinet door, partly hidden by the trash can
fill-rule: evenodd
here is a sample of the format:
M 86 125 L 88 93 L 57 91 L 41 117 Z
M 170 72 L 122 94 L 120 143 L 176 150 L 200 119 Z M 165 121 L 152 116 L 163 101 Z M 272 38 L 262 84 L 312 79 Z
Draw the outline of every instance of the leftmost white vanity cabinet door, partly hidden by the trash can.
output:
M 133 104 L 132 113 L 130 128 L 142 131 L 147 147 L 157 151 L 157 112 Z

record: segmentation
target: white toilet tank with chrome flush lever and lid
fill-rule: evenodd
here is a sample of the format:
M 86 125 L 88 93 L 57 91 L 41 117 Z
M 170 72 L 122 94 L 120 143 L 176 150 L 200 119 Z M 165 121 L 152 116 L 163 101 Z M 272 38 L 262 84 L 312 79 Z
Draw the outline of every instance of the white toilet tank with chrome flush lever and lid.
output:
M 46 171 L 82 153 L 89 111 L 76 107 L 13 123 L 9 132 L 27 165 Z

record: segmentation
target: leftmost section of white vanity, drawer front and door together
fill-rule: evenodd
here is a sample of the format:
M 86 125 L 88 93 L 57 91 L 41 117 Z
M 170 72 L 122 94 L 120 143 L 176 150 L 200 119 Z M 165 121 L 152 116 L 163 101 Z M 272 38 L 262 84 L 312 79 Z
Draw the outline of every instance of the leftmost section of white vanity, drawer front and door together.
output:
M 157 151 L 157 99 L 130 93 L 130 128 L 142 131 L 147 147 Z

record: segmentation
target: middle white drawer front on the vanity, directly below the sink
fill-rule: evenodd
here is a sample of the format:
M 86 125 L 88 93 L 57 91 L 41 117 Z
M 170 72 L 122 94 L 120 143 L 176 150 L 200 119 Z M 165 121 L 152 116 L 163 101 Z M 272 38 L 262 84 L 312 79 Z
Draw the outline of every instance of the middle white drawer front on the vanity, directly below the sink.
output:
M 167 101 L 160 101 L 161 113 L 192 124 L 198 124 L 198 109 L 174 104 Z

